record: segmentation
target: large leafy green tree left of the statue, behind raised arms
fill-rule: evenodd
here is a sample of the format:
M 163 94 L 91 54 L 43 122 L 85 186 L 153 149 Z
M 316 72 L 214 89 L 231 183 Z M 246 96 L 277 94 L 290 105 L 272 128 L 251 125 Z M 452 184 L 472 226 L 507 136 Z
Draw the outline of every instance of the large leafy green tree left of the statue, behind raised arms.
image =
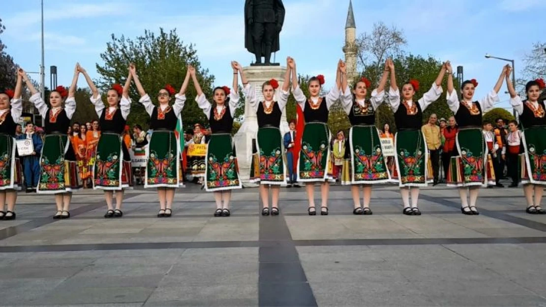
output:
M 160 28 L 159 34 L 146 30 L 143 36 L 136 39 L 127 39 L 123 35 L 111 35 L 112 41 L 106 44 L 106 51 L 100 53 L 104 64 L 97 63 L 97 71 L 102 76 L 97 86 L 103 93 L 112 83 L 123 83 L 126 80 L 129 63 L 135 63 L 146 92 L 155 101 L 159 89 L 166 84 L 172 85 L 178 91 L 186 76 L 187 65 L 192 64 L 198 71 L 198 79 L 206 97 L 212 97 L 212 83 L 214 76 L 207 69 L 201 68 L 197 50 L 192 44 L 185 45 L 176 29 L 169 33 Z M 228 67 L 226 67 L 228 69 Z M 129 124 L 148 126 L 150 116 L 144 106 L 139 104 L 140 95 L 134 86 L 130 89 L 130 98 L 133 103 L 128 118 Z M 188 86 L 186 90 L 186 105 L 182 111 L 182 122 L 185 128 L 191 128 L 195 123 L 205 123 L 206 117 L 195 103 L 195 88 Z

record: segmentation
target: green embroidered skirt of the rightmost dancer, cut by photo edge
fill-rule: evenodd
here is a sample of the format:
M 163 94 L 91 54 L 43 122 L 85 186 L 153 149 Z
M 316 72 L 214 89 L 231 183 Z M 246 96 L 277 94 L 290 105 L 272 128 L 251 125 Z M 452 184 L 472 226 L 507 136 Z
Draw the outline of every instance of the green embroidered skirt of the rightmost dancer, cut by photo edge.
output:
M 546 127 L 525 128 L 522 135 L 521 183 L 546 185 Z

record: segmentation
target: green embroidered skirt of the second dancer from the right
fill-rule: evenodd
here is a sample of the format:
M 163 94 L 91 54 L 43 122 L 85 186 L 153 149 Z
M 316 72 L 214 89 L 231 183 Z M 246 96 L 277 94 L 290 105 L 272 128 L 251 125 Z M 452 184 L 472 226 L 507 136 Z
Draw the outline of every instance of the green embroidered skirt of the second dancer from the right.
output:
M 495 172 L 480 128 L 459 129 L 455 138 L 458 156 L 449 161 L 447 186 L 487 186 Z

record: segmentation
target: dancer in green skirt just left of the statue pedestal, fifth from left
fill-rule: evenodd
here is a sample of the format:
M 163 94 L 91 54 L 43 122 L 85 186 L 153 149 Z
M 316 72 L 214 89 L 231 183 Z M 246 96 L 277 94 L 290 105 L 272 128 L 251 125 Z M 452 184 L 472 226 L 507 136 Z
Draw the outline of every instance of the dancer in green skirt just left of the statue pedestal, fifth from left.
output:
M 233 68 L 233 90 L 230 91 L 227 86 L 214 88 L 213 103 L 211 104 L 203 94 L 203 90 L 201 90 L 195 68 L 189 66 L 188 69 L 197 91 L 195 101 L 209 119 L 212 131 L 205 160 L 205 190 L 214 192 L 216 201 L 214 216 L 230 216 L 231 190 L 242 187 L 236 166 L 235 147 L 231 134 L 233 116 L 239 102 L 239 93 L 237 92 L 239 71 Z

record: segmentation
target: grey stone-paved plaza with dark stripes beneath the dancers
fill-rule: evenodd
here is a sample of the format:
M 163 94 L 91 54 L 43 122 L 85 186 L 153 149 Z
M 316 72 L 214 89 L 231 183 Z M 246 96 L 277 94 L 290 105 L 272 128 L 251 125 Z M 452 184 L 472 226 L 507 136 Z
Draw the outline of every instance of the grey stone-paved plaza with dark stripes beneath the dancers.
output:
M 425 188 L 423 215 L 405 216 L 385 185 L 364 216 L 333 186 L 330 215 L 308 216 L 305 189 L 283 188 L 281 215 L 261 216 L 254 188 L 215 218 L 190 184 L 171 218 L 135 189 L 121 219 L 85 190 L 54 220 L 53 196 L 22 193 L 0 221 L 0 306 L 546 306 L 546 216 L 525 213 L 521 188 L 480 196 L 466 216 L 456 190 Z

